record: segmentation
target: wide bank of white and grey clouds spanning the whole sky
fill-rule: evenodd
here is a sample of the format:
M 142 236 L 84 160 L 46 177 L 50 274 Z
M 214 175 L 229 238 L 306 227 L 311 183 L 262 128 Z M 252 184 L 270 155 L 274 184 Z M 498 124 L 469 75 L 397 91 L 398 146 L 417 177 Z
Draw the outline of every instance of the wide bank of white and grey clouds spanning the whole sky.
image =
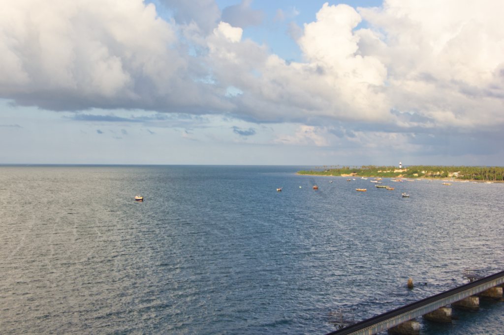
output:
M 271 139 L 277 144 L 502 139 L 504 3 L 326 3 L 291 34 L 294 61 L 244 37 L 267 21 L 252 5 L 9 3 L 0 12 L 0 98 L 75 112 L 76 121 L 131 122 L 120 110 L 138 110 L 298 125 Z M 297 14 L 279 8 L 273 21 Z M 258 137 L 249 125 L 227 128 Z

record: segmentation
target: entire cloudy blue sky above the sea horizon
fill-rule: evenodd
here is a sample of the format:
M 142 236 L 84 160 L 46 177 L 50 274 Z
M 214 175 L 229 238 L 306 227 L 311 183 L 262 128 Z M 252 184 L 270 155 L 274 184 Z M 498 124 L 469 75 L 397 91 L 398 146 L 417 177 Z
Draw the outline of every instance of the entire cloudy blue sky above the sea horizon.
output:
M 3 0 L 0 164 L 504 166 L 501 13 Z

